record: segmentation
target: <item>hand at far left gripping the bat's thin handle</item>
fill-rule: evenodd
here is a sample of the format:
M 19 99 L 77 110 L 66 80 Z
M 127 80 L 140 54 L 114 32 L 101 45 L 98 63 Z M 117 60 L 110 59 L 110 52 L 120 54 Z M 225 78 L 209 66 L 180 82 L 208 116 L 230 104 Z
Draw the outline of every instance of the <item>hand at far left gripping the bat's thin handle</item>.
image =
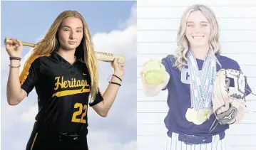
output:
M 23 50 L 23 45 L 21 41 L 14 38 L 10 38 L 8 41 L 6 41 L 5 45 L 6 45 L 6 51 L 10 57 L 21 58 L 21 53 Z

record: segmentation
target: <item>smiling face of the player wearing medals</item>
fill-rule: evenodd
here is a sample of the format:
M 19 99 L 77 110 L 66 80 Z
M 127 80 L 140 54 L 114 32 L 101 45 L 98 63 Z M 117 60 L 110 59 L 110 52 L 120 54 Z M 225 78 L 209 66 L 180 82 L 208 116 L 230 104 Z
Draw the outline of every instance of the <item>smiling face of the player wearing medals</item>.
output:
M 188 16 L 185 36 L 191 47 L 205 47 L 209 45 L 210 24 L 201 11 L 193 11 Z

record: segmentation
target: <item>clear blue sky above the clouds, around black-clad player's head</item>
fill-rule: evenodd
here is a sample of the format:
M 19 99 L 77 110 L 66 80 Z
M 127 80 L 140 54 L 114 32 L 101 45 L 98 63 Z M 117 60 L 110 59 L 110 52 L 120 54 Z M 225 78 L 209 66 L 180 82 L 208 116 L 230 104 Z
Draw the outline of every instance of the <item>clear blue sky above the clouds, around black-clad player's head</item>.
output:
M 109 32 L 122 28 L 119 24 L 129 17 L 134 4 L 134 1 L 1 1 L 1 41 L 14 37 L 34 43 L 58 14 L 66 10 L 81 13 L 91 35 Z

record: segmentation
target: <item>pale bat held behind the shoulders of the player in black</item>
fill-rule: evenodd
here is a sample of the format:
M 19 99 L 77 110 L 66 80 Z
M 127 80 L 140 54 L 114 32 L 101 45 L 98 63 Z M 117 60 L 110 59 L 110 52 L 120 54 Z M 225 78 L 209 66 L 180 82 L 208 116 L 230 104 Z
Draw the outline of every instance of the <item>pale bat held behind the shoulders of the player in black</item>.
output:
M 5 38 L 4 44 L 8 41 L 10 41 L 10 39 Z M 31 48 L 36 47 L 36 44 L 34 44 L 34 43 L 26 43 L 26 42 L 22 42 L 22 41 L 21 41 L 21 43 L 22 43 L 22 45 L 28 46 Z M 114 58 L 119 58 L 118 63 L 124 64 L 126 62 L 126 58 L 123 55 L 115 55 L 113 53 L 105 53 L 105 52 L 98 52 L 98 51 L 95 51 L 95 54 L 96 54 L 97 60 L 99 60 L 99 61 L 113 62 Z

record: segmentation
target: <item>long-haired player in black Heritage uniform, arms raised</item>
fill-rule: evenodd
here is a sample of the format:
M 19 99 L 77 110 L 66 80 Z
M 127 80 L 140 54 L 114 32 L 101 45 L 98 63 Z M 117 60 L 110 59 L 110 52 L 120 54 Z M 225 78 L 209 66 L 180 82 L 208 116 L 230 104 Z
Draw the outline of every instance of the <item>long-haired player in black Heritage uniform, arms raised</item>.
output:
M 91 35 L 77 11 L 58 15 L 19 76 L 22 50 L 21 41 L 6 43 L 9 105 L 19 105 L 34 87 L 38 95 L 39 112 L 26 149 L 88 149 L 88 106 L 101 117 L 107 116 L 121 86 L 124 66 L 114 60 L 113 77 L 102 95 Z

